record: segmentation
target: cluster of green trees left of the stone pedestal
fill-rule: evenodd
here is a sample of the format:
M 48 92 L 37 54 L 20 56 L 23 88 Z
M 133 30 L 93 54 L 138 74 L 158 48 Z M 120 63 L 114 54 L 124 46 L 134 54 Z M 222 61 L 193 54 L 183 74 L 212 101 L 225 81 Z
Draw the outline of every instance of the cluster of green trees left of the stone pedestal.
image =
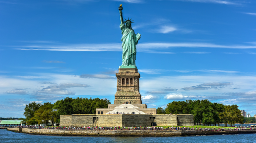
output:
M 25 107 L 23 121 L 30 125 L 47 124 L 49 120 L 60 123 L 61 115 L 96 114 L 96 108 L 108 108 L 111 104 L 107 99 L 69 98 L 58 100 L 56 103 L 37 104 L 32 102 Z

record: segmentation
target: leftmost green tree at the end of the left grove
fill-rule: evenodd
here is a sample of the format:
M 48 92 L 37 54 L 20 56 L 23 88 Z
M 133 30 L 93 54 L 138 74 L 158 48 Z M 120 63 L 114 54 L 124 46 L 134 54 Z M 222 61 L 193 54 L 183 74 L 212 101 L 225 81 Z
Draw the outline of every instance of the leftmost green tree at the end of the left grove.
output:
M 25 112 L 24 112 L 24 116 L 26 117 L 27 120 L 30 120 L 31 118 L 34 117 L 34 113 L 36 110 L 39 109 L 39 107 L 41 107 L 40 103 L 36 103 L 36 102 L 32 102 L 28 105 L 26 105 L 25 107 Z

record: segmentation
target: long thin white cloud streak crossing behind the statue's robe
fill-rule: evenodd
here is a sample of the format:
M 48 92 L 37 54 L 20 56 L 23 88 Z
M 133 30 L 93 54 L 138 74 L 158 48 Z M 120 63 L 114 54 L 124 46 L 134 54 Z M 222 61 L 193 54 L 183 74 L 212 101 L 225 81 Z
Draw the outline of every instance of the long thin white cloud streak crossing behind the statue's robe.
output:
M 100 51 L 122 51 L 121 43 L 112 44 L 73 44 L 73 45 L 26 45 L 14 46 L 18 50 L 47 50 L 47 51 L 87 51 L 87 52 L 100 52 Z M 248 45 L 219 45 L 212 43 L 166 43 L 166 42 L 151 42 L 139 43 L 137 45 L 137 52 L 159 53 L 159 54 L 173 54 L 166 51 L 169 48 L 229 48 L 229 49 L 255 49 L 255 43 L 248 43 Z M 194 52 L 196 54 L 196 52 Z M 197 53 L 198 54 L 198 53 Z

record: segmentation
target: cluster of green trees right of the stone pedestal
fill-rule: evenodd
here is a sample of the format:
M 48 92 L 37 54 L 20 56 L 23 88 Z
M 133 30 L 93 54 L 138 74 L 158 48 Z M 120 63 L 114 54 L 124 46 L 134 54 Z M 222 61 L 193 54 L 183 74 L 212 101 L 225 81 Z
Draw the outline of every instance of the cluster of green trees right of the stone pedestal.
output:
M 173 101 L 167 104 L 165 112 L 167 114 L 193 114 L 195 124 L 228 123 L 232 126 L 234 123 L 243 123 L 243 117 L 237 105 L 224 106 L 208 100 Z

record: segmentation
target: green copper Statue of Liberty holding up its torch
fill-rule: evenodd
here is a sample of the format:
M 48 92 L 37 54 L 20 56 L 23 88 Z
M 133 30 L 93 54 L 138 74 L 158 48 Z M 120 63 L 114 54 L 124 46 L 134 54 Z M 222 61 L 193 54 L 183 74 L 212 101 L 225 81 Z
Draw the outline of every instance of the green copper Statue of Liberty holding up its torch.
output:
M 119 7 L 120 12 L 120 19 L 121 24 L 120 28 L 122 30 L 122 47 L 123 47 L 123 64 L 120 66 L 120 68 L 137 68 L 135 65 L 136 60 L 136 44 L 138 43 L 138 40 L 140 39 L 140 34 L 135 35 L 134 30 L 131 28 L 132 20 L 128 18 L 128 20 L 125 21 L 123 19 L 123 12 L 122 12 L 122 4 Z

